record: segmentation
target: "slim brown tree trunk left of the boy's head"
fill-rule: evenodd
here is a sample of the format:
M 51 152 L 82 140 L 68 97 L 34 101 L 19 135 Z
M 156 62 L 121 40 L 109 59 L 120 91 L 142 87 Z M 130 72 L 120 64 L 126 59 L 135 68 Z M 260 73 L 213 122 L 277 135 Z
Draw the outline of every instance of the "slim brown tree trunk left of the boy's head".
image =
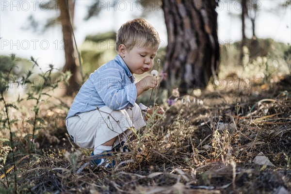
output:
M 67 1 L 67 2 L 66 2 Z M 68 3 L 68 4 L 66 4 Z M 71 96 L 79 89 L 79 69 L 74 56 L 73 31 L 70 23 L 73 21 L 75 0 L 58 0 L 59 9 L 61 11 L 60 20 L 63 28 L 63 38 L 65 44 L 65 66 L 63 71 L 70 71 L 72 76 L 69 78 L 69 86 L 66 89 L 66 95 Z M 67 6 L 70 13 L 68 13 Z M 70 14 L 70 15 L 69 15 Z

